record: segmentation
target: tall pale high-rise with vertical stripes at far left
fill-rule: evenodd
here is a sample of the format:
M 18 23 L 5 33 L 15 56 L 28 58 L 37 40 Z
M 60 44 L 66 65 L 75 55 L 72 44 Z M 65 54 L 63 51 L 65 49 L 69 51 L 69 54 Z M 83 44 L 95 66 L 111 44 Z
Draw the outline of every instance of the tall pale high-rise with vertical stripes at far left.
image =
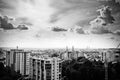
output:
M 11 49 L 6 52 L 6 66 L 11 67 L 22 75 L 29 74 L 30 52 L 22 49 Z

